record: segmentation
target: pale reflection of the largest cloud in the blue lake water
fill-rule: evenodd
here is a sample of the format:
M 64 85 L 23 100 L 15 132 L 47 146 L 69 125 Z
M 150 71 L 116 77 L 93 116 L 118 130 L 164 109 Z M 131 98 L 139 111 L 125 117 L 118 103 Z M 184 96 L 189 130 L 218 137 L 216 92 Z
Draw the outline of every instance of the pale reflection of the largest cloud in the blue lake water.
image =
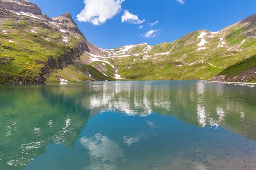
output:
M 98 133 L 90 138 L 82 137 L 80 143 L 89 150 L 92 162 L 87 169 L 91 170 L 112 170 L 116 169 L 111 165 L 117 158 L 123 157 L 123 149 L 118 144 Z M 106 162 L 110 161 L 111 164 Z M 85 168 L 86 169 L 86 168 Z

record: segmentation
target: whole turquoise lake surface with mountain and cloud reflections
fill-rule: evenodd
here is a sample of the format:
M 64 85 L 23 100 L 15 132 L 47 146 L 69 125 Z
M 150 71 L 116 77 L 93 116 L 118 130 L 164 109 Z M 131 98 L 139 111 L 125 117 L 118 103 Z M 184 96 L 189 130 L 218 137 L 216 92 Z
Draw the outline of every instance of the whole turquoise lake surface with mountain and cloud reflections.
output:
M 1 170 L 255 170 L 255 140 L 253 88 L 0 85 Z

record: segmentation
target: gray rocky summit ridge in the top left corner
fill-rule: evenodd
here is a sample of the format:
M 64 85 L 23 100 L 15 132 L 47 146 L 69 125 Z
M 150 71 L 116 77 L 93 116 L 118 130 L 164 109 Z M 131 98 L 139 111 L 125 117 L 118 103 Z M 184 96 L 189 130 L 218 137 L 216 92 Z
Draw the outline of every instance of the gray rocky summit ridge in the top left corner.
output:
M 16 3 L 16 2 L 19 2 L 19 3 Z M 41 9 L 34 3 L 30 3 L 28 1 L 23 1 L 23 0 L 18 0 L 16 2 L 11 2 L 9 0 L 1 0 L 0 8 L 10 9 L 13 11 L 30 12 L 36 15 L 42 15 Z

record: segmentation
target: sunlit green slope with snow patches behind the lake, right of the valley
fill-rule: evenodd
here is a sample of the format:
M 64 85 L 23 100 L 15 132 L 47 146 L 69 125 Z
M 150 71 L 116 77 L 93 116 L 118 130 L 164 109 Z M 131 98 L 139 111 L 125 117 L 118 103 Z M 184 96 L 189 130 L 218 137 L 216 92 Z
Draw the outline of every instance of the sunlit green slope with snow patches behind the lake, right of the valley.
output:
M 85 55 L 93 63 L 108 61 L 125 79 L 212 79 L 256 54 L 255 32 L 256 15 L 252 15 L 218 32 L 199 30 L 174 42 L 98 48 Z

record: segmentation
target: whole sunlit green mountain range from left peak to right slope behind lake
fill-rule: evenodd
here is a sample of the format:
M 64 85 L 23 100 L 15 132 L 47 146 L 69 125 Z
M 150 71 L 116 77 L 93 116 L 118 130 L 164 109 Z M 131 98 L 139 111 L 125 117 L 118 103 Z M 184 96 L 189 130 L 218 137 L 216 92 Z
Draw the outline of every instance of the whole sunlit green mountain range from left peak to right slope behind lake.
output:
M 0 0 L 0 83 L 213 79 L 256 55 L 256 14 L 218 32 L 106 50 L 91 44 L 70 13 L 49 18 L 26 0 Z

